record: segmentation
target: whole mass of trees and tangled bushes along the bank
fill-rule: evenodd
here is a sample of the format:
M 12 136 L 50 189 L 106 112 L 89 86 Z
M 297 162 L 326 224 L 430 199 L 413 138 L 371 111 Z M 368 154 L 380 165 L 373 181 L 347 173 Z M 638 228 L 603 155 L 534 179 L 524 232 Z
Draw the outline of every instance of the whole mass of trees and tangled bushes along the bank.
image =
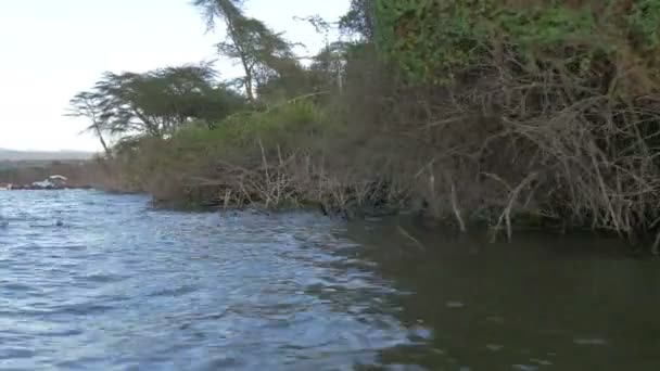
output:
M 337 23 L 308 18 L 352 40 L 308 65 L 241 5 L 194 1 L 242 79 L 206 65 L 106 74 L 72 101 L 123 188 L 658 247 L 659 2 L 353 0 Z

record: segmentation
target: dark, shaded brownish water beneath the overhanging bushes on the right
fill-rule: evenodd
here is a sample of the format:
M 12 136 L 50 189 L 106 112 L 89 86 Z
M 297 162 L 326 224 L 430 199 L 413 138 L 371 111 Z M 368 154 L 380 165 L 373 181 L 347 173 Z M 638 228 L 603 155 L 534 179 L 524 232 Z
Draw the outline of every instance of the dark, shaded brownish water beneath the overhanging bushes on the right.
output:
M 381 353 L 383 363 L 437 370 L 659 370 L 660 270 L 601 252 L 612 241 L 517 235 L 488 244 L 395 221 L 354 223 L 359 258 L 393 282 L 406 327 L 433 336 Z

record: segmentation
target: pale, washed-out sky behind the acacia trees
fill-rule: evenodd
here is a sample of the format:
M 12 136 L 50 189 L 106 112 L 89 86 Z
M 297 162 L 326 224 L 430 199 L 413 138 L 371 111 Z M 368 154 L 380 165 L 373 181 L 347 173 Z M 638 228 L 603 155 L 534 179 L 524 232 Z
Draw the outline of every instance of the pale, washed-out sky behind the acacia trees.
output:
M 248 0 L 248 14 L 308 47 L 322 36 L 294 16 L 335 21 L 350 0 Z M 81 131 L 84 119 L 66 117 L 68 100 L 106 71 L 145 72 L 218 59 L 221 30 L 206 33 L 190 0 L 0 1 L 0 148 L 99 151 Z M 240 67 L 218 61 L 221 77 Z

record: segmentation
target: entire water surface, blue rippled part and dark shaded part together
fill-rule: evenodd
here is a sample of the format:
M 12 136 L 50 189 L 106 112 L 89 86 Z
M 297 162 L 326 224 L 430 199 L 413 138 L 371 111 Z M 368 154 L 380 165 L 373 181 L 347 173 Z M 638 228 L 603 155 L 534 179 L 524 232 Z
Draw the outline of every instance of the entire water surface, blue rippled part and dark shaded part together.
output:
M 0 370 L 660 370 L 660 269 L 615 251 L 0 192 Z

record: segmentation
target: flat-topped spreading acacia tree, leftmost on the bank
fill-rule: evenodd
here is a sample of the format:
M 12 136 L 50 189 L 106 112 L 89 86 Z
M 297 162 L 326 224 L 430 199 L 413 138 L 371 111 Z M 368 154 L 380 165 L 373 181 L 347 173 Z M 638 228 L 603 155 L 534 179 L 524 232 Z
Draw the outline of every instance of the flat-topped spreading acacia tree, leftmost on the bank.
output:
M 243 99 L 214 82 L 208 65 L 185 65 L 144 74 L 105 73 L 90 91 L 71 101 L 71 115 L 92 120 L 90 129 L 110 153 L 103 133 L 165 137 L 190 119 L 210 127 L 234 112 Z

